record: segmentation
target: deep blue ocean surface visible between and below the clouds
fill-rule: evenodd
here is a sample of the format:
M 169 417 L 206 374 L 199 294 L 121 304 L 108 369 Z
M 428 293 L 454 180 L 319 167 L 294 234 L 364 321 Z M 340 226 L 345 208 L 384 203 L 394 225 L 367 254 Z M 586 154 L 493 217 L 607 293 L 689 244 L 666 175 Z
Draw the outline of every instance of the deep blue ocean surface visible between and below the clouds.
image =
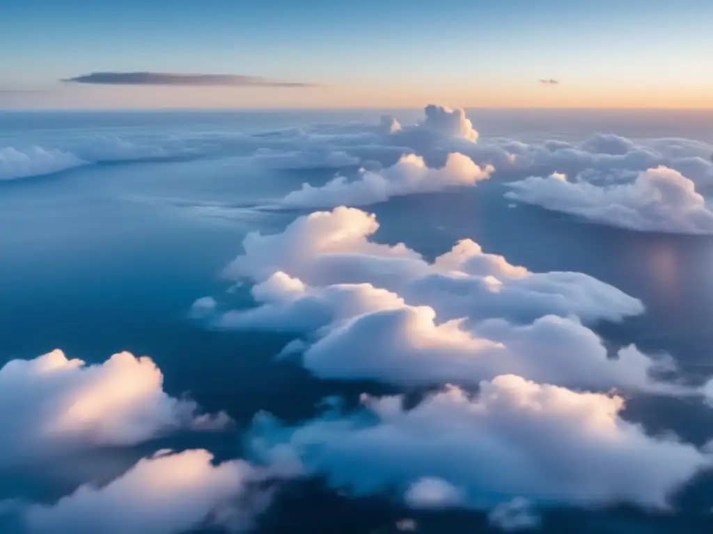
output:
M 242 431 L 261 410 L 299 422 L 317 414 L 324 397 L 392 390 L 320 380 L 294 362 L 276 361 L 289 336 L 215 330 L 190 317 L 196 299 L 230 286 L 220 272 L 248 232 L 282 231 L 311 211 L 264 206 L 303 182 L 323 184 L 337 171 L 356 171 L 319 158 L 256 161 L 256 150 L 279 150 L 274 141 L 284 132 L 376 124 L 384 114 L 403 124 L 421 111 L 0 112 L 0 150 L 26 156 L 0 158 L 0 366 L 54 348 L 86 362 L 128 350 L 155 360 L 168 394 L 188 392 L 207 411 L 225 410 L 236 422 L 227 435 L 171 436 L 0 473 L 0 501 L 51 503 L 88 478 L 111 480 L 163 446 L 240 456 Z M 713 143 L 711 112 L 469 110 L 468 116 L 481 139 L 578 141 L 614 132 Z M 538 206 L 513 209 L 503 192 L 492 181 L 364 209 L 379 219 L 377 241 L 404 242 L 429 259 L 470 237 L 530 271 L 580 271 L 610 283 L 640 298 L 647 312 L 598 325 L 607 342 L 668 352 L 692 384 L 713 376 L 712 237 L 627 231 Z M 241 291 L 236 301 L 250 305 Z M 642 395 L 627 402 L 625 417 L 698 446 L 713 438 L 713 410 L 690 399 Z M 293 486 L 257 532 L 389 533 L 404 517 L 416 518 L 419 532 L 491 531 L 484 513 L 414 513 L 386 497 L 340 496 L 319 480 Z M 700 477 L 676 500 L 675 513 L 553 508 L 543 515 L 542 531 L 712 531 L 711 478 Z M 14 533 L 10 523 L 2 525 L 1 533 Z

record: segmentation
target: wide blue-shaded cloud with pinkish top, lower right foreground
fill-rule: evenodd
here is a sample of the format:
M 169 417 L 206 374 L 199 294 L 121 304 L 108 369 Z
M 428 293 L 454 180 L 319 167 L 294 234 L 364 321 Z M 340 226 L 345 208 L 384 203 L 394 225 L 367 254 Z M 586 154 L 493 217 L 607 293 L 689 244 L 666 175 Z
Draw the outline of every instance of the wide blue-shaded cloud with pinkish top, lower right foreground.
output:
M 475 397 L 451 386 L 412 409 L 404 400 L 364 397 L 361 411 L 293 428 L 258 417 L 252 447 L 268 459 L 300 459 L 356 495 L 408 494 L 424 477 L 438 478 L 473 508 L 513 498 L 667 508 L 671 494 L 710 465 L 694 446 L 622 419 L 616 395 L 505 375 L 481 382 Z

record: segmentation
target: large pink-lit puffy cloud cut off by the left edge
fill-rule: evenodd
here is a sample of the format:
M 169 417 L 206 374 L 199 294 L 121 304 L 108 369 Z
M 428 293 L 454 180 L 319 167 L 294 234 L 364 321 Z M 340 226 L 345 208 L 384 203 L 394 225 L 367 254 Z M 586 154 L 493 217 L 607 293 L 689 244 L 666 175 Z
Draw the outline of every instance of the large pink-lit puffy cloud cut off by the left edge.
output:
M 163 389 L 148 357 L 120 352 L 98 365 L 54 350 L 0 368 L 0 466 L 91 446 L 132 445 L 180 428 L 222 426 Z

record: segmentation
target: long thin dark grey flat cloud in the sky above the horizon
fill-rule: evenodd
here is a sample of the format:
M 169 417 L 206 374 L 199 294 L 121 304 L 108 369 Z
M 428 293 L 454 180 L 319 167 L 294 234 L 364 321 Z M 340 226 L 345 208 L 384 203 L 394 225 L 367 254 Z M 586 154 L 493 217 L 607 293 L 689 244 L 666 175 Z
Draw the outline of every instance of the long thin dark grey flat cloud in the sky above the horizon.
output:
M 234 87 L 315 87 L 316 84 L 238 74 L 90 73 L 62 80 L 99 85 L 231 85 Z

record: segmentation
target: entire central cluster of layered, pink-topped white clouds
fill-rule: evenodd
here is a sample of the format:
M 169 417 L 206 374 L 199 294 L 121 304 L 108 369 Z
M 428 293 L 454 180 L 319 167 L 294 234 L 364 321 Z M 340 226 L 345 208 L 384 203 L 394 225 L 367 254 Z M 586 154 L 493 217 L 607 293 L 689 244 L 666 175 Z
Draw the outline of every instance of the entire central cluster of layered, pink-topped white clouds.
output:
M 670 362 L 635 347 L 612 359 L 580 322 L 642 313 L 620 290 L 580 273 L 530 273 L 471 240 L 428 263 L 403 244 L 372 242 L 377 229 L 373 215 L 340 207 L 282 234 L 250 234 L 226 272 L 257 282 L 257 306 L 215 324 L 312 332 L 289 350 L 325 378 L 476 384 L 516 373 L 568 387 L 678 391 L 650 377 Z

